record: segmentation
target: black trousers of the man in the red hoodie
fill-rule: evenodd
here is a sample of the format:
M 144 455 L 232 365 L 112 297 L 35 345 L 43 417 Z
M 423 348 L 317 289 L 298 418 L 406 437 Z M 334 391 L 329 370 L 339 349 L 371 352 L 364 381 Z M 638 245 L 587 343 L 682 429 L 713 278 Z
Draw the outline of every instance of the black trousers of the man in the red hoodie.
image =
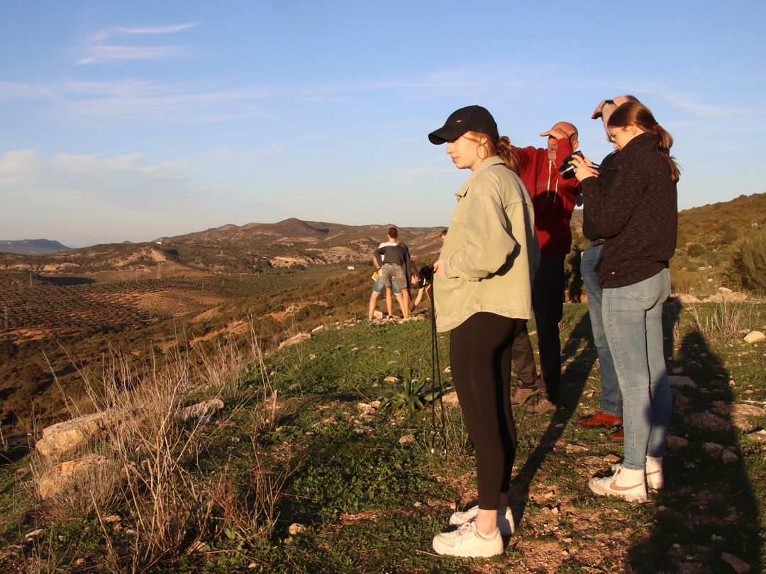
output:
M 537 324 L 540 377 L 552 403 L 561 385 L 561 339 L 558 324 L 564 315 L 564 259 L 543 257 L 532 282 L 532 311 Z

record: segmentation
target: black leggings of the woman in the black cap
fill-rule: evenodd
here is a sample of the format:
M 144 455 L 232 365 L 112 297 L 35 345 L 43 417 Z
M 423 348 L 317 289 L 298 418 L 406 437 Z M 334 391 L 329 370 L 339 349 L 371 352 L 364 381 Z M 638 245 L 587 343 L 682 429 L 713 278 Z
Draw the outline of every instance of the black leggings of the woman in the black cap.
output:
M 516 458 L 510 399 L 511 347 L 525 319 L 476 313 L 452 330 L 450 367 L 463 421 L 476 448 L 479 507 L 496 510 Z

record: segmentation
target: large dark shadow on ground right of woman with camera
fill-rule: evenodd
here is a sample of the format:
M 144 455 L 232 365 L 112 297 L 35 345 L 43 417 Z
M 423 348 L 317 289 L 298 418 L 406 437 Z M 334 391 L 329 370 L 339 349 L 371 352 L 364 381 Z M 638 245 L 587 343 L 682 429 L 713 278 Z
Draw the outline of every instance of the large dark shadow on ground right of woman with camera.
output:
M 678 357 L 683 375 L 697 386 L 673 390 L 669 434 L 689 445 L 666 451 L 665 486 L 650 497 L 656 511 L 647 535 L 628 550 L 628 563 L 633 572 L 647 574 L 732 572 L 722 558 L 728 553 L 751 566 L 750 572 L 761 572 L 759 504 L 741 460 L 742 448 L 750 445 L 740 443 L 743 435 L 732 424 L 747 422 L 732 416 L 729 373 L 698 331 L 683 338 Z M 718 447 L 703 448 L 705 443 L 728 448 L 738 459 L 728 454 L 732 462 L 725 464 L 720 450 L 712 454 Z

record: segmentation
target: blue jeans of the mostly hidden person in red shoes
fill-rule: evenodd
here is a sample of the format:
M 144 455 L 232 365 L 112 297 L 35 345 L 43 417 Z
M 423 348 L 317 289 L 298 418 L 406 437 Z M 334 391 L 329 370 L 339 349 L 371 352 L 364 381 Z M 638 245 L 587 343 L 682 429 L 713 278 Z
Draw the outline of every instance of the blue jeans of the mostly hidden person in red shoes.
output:
M 609 351 L 607 334 L 604 332 L 604 320 L 601 318 L 601 287 L 598 286 L 598 275 L 593 270 L 601 257 L 604 246 L 594 245 L 582 252 L 580 259 L 580 274 L 588 292 L 588 315 L 591 316 L 591 331 L 593 342 L 598 353 L 598 370 L 601 372 L 601 410 L 612 416 L 622 416 L 622 395 L 620 383 L 617 381 L 617 371 L 614 370 L 614 360 Z

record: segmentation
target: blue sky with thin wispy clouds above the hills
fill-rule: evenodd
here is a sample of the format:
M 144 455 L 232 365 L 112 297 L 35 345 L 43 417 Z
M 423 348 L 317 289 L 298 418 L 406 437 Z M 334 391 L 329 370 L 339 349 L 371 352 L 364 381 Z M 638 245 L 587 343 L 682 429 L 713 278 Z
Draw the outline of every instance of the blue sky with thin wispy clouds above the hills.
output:
M 0 239 L 147 241 L 288 217 L 446 226 L 427 133 L 485 106 L 516 145 L 633 93 L 679 209 L 764 189 L 764 2 L 3 2 Z

